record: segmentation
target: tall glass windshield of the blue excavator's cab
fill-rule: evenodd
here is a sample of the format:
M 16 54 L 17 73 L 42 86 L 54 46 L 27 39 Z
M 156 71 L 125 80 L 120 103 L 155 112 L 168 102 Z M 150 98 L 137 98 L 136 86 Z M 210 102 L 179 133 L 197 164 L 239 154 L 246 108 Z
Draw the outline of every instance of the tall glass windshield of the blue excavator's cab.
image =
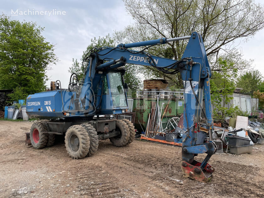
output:
M 126 107 L 126 96 L 124 92 L 121 74 L 119 72 L 109 72 L 108 77 L 110 81 L 110 90 L 114 107 Z

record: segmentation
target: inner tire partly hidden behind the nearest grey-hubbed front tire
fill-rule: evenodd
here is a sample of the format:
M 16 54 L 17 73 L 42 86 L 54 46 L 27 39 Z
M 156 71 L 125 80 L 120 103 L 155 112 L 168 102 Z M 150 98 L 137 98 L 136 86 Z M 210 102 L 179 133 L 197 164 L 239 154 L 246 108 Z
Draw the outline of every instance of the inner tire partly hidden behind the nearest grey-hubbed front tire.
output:
M 90 136 L 90 148 L 89 148 L 89 152 L 87 155 L 91 156 L 95 154 L 98 149 L 99 140 L 98 140 L 97 132 L 95 128 L 90 124 L 84 123 L 84 124 L 81 124 L 80 126 L 83 126 Z

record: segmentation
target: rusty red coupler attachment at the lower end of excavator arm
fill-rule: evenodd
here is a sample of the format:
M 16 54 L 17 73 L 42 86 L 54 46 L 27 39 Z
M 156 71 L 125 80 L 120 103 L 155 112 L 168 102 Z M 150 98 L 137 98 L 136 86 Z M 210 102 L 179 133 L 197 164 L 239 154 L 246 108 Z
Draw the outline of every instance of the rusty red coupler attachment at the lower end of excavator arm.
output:
M 193 164 L 197 164 L 194 160 Z M 182 161 L 181 169 L 184 172 L 185 178 L 195 179 L 200 182 L 209 182 L 212 179 L 212 172 L 214 169 L 211 170 L 202 170 L 199 166 L 191 165 L 185 161 Z

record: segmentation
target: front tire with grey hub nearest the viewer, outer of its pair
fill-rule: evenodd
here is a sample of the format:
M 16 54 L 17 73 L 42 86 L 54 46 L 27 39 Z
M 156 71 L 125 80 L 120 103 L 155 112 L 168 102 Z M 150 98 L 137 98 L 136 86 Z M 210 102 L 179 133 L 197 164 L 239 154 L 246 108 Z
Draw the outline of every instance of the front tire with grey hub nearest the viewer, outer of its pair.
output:
M 65 135 L 65 147 L 71 158 L 84 158 L 89 152 L 90 137 L 83 126 L 70 126 Z

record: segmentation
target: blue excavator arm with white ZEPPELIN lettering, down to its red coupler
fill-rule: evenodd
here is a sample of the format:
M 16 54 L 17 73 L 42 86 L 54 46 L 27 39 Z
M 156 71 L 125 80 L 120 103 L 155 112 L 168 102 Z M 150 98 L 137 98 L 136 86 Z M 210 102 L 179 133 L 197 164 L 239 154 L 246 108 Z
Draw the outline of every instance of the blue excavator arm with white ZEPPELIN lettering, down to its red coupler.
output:
M 153 45 L 162 45 L 167 42 L 184 39 L 189 39 L 189 42 L 181 60 L 152 56 L 144 50 L 134 51 L 131 49 L 140 46 L 150 47 Z M 176 74 L 180 72 L 184 84 L 183 161 L 181 169 L 185 177 L 203 182 L 210 180 L 214 169 L 208 164 L 208 161 L 216 152 L 217 147 L 212 141 L 213 120 L 209 81 L 211 69 L 201 35 L 194 32 L 191 36 L 185 37 L 172 39 L 161 38 L 137 43 L 119 44 L 114 48 L 102 47 L 94 50 L 90 54 L 87 62 L 88 67 L 84 85 L 80 92 L 81 100 L 89 98 L 87 93 L 90 93 L 90 84 L 96 73 L 107 72 L 128 63 L 155 67 L 157 70 L 167 74 Z M 203 108 L 203 99 L 205 108 Z M 203 114 L 203 117 L 206 119 L 209 142 L 196 144 L 197 133 L 200 132 L 201 114 Z M 201 163 L 194 160 L 194 157 L 199 153 L 207 154 L 206 158 Z

